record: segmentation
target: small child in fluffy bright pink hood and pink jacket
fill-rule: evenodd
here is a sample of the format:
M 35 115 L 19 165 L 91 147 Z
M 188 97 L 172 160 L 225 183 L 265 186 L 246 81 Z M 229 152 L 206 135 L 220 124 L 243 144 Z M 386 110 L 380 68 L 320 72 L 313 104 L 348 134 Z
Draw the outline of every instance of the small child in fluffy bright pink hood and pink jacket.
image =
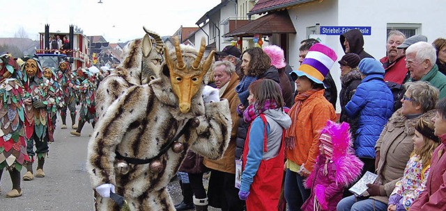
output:
M 305 187 L 312 189 L 312 195 L 302 205 L 304 211 L 336 210 L 344 187 L 360 176 L 364 164 L 352 153 L 353 143 L 347 123 L 327 121 L 319 140 L 316 165 L 305 181 Z

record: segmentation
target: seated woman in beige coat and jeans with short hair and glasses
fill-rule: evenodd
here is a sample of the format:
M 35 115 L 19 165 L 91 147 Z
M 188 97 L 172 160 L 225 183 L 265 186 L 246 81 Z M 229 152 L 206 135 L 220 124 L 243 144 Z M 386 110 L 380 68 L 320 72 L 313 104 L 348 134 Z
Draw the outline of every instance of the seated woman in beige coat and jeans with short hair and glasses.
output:
M 387 210 L 395 184 L 401 180 L 406 163 L 413 151 L 415 124 L 419 119 L 431 119 L 438 100 L 438 89 L 426 82 L 406 83 L 402 108 L 394 112 L 376 142 L 377 183 L 367 184 L 364 196 L 348 196 L 337 210 Z

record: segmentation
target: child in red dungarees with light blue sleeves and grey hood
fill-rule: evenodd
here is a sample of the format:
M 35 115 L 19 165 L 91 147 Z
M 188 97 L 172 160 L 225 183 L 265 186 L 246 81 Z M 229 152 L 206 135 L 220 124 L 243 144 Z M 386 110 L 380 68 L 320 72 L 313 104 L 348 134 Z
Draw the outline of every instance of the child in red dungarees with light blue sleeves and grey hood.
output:
M 277 210 L 284 174 L 284 133 L 291 118 L 284 112 L 279 84 L 270 79 L 249 85 L 250 124 L 243 149 L 244 171 L 238 196 L 247 210 Z

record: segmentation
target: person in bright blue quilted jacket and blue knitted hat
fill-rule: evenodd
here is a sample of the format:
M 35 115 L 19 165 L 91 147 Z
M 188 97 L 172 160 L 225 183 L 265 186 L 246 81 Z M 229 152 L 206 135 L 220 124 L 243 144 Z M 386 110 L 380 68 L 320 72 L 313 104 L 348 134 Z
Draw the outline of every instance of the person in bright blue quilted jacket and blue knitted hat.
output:
M 364 162 L 364 175 L 367 171 L 375 171 L 374 147 L 384 125 L 392 116 L 394 100 L 392 92 L 383 81 L 385 71 L 380 61 L 364 58 L 359 69 L 362 81 L 345 106 L 345 111 L 348 117 L 358 118 L 354 149 Z

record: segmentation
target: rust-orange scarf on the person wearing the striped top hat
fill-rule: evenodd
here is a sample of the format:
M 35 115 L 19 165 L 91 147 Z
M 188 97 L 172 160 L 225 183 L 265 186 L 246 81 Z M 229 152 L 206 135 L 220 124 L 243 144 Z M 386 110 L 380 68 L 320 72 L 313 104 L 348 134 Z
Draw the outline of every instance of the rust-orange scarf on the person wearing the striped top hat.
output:
M 286 136 L 285 136 L 285 147 L 286 149 L 294 149 L 295 147 L 295 130 L 297 129 L 297 119 L 300 112 L 300 106 L 302 103 L 308 99 L 309 96 L 312 96 L 314 92 L 317 92 L 319 90 L 308 90 L 304 93 L 298 93 L 298 95 L 294 98 L 294 105 L 291 107 L 288 115 L 291 117 L 291 126 L 286 130 Z

